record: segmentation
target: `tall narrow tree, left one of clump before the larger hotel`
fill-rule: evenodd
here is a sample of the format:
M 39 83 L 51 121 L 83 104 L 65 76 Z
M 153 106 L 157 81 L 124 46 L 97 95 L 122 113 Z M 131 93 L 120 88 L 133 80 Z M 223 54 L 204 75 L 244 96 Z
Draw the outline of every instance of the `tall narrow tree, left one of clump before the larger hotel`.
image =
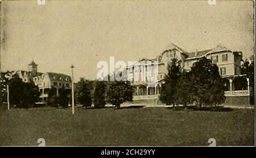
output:
M 166 105 L 177 104 L 177 82 L 181 75 L 181 66 L 176 58 L 168 63 L 167 74 L 164 76 L 164 84 L 160 90 L 160 101 Z

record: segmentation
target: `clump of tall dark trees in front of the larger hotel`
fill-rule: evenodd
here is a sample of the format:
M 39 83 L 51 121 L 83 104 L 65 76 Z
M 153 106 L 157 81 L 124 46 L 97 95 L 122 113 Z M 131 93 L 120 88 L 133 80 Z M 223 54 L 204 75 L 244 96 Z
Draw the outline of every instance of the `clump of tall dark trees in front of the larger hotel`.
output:
M 224 103 L 225 87 L 218 72 L 218 66 L 210 59 L 202 58 L 195 62 L 191 71 L 181 70 L 176 59 L 168 65 L 165 83 L 160 91 L 160 100 L 167 105 L 196 104 L 215 106 Z

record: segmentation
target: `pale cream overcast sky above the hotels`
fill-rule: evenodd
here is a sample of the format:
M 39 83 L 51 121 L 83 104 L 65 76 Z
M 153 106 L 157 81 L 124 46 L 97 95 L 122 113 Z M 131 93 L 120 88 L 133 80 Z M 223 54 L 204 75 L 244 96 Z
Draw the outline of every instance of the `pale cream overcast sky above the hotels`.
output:
M 2 2 L 1 69 L 95 79 L 97 62 L 155 58 L 170 42 L 187 51 L 221 44 L 254 52 L 253 1 L 31 1 Z

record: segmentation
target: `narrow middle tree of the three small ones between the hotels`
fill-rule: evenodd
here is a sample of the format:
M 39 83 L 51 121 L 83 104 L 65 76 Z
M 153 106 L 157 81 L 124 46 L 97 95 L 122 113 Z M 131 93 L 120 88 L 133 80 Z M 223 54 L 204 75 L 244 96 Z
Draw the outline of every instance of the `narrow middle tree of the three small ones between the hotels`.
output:
M 95 89 L 94 89 L 94 107 L 96 108 L 102 108 L 105 106 L 105 96 L 106 96 L 106 83 L 104 81 L 97 80 L 95 83 Z

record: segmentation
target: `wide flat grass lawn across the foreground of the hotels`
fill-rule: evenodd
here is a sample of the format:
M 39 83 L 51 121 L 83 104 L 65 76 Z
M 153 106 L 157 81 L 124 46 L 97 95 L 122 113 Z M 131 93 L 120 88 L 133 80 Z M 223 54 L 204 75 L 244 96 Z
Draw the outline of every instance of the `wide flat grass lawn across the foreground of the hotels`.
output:
M 254 109 L 229 112 L 168 108 L 11 109 L 1 113 L 1 145 L 254 145 Z

